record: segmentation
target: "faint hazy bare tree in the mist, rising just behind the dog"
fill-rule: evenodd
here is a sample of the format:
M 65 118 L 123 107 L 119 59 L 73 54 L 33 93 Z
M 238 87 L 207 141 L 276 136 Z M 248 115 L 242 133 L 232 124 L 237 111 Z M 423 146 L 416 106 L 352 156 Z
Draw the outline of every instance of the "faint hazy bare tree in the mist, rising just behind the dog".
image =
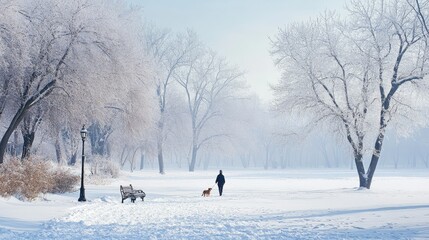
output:
M 183 87 L 190 117 L 192 142 L 189 171 L 195 170 L 198 150 L 215 138 L 226 136 L 210 131 L 213 121 L 223 115 L 223 104 L 237 96 L 242 73 L 216 56 L 213 51 L 198 49 L 189 66 L 176 75 Z

